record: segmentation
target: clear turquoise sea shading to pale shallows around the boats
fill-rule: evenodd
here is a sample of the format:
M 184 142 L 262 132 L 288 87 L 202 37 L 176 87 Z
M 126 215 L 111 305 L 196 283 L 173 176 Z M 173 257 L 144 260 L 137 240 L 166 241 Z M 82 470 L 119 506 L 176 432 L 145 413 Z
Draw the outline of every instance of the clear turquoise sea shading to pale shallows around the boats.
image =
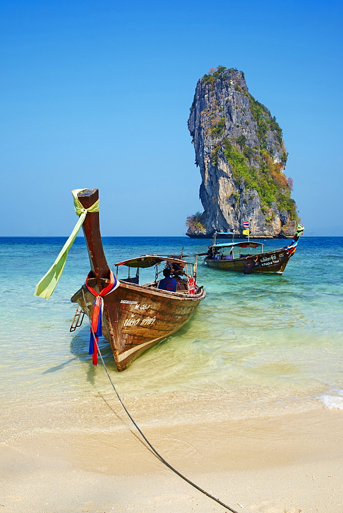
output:
M 50 300 L 33 295 L 65 240 L 0 239 L 5 439 L 74 428 L 76 416 L 94 398 L 112 396 L 101 363 L 92 366 L 88 356 L 86 319 L 69 332 L 75 310 L 69 300 L 89 271 L 83 237 L 70 250 Z M 113 237 L 103 242 L 111 265 L 144 253 L 177 253 L 182 247 L 185 253 L 200 253 L 210 243 L 185 237 Z M 262 242 L 265 250 L 288 243 Z M 124 278 L 124 269 L 121 273 Z M 103 340 L 106 365 L 143 424 L 343 409 L 342 275 L 339 237 L 302 236 L 282 276 L 242 275 L 199 265 L 198 284 L 204 285 L 207 297 L 193 319 L 122 373 Z M 153 271 L 144 270 L 141 282 L 152 277 Z M 73 405 L 78 405 L 77 415 L 70 413 Z M 82 428 L 88 429 L 87 422 L 84 415 Z M 100 420 L 92 422 L 93 428 L 102 429 Z

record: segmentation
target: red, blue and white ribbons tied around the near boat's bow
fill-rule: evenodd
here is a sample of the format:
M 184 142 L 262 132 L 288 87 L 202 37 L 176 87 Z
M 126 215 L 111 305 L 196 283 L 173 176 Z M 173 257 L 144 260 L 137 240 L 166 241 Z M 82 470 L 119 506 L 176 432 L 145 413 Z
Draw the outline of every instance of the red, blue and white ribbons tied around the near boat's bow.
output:
M 106 285 L 105 288 L 103 288 L 100 292 L 93 289 L 90 285 L 88 285 L 87 281 L 89 278 L 93 278 L 93 272 L 90 271 L 88 274 L 85 285 L 87 287 L 87 290 L 96 297 L 94 300 L 93 305 L 93 313 L 92 313 L 92 320 L 91 320 L 91 328 L 90 328 L 90 340 L 89 340 L 89 351 L 88 354 L 92 354 L 92 362 L 93 365 L 98 365 L 98 340 L 99 337 L 102 337 L 102 312 L 104 308 L 104 300 L 103 297 L 110 292 L 113 292 L 113 290 L 116 290 L 117 287 L 119 287 L 120 283 L 115 277 L 115 275 L 110 270 L 110 282 L 108 285 Z

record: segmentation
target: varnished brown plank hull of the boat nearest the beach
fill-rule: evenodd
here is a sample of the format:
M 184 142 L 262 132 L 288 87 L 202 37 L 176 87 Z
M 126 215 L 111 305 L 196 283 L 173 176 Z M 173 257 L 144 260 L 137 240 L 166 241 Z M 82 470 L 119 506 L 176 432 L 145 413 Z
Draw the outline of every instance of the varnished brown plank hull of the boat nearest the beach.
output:
M 120 281 L 120 286 L 104 297 L 103 311 L 103 334 L 118 370 L 126 369 L 143 351 L 179 330 L 205 296 L 202 288 L 192 295 Z M 85 286 L 71 301 L 91 318 L 94 297 Z

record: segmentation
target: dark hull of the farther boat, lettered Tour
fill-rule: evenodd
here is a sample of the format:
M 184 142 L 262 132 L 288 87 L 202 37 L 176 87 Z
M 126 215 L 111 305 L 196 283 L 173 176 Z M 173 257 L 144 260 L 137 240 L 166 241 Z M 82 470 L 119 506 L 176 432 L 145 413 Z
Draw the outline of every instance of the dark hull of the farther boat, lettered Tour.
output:
M 282 248 L 275 251 L 268 251 L 266 253 L 254 254 L 252 256 L 257 257 L 257 265 L 253 267 L 252 272 L 282 274 L 290 257 L 292 256 L 292 253 L 289 253 L 287 250 Z M 213 269 L 244 272 L 245 258 L 213 260 L 210 257 L 206 257 L 204 262 Z

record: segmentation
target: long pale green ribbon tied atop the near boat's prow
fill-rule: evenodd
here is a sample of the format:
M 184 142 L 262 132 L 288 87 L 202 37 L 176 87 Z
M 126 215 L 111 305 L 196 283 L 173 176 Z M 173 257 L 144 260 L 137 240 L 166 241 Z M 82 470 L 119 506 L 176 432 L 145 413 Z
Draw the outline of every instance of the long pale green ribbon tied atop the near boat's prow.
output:
M 37 283 L 34 295 L 39 295 L 41 298 L 49 299 L 52 292 L 55 290 L 56 285 L 59 283 L 63 268 L 65 266 L 69 249 L 71 248 L 79 230 L 86 218 L 87 212 L 99 212 L 99 200 L 89 208 L 84 208 L 78 199 L 79 192 L 86 189 L 74 189 L 71 191 L 74 197 L 74 209 L 77 215 L 79 215 L 79 221 L 75 224 L 73 231 L 71 232 L 67 242 L 61 249 L 58 257 L 48 270 L 44 274 L 43 278 Z

